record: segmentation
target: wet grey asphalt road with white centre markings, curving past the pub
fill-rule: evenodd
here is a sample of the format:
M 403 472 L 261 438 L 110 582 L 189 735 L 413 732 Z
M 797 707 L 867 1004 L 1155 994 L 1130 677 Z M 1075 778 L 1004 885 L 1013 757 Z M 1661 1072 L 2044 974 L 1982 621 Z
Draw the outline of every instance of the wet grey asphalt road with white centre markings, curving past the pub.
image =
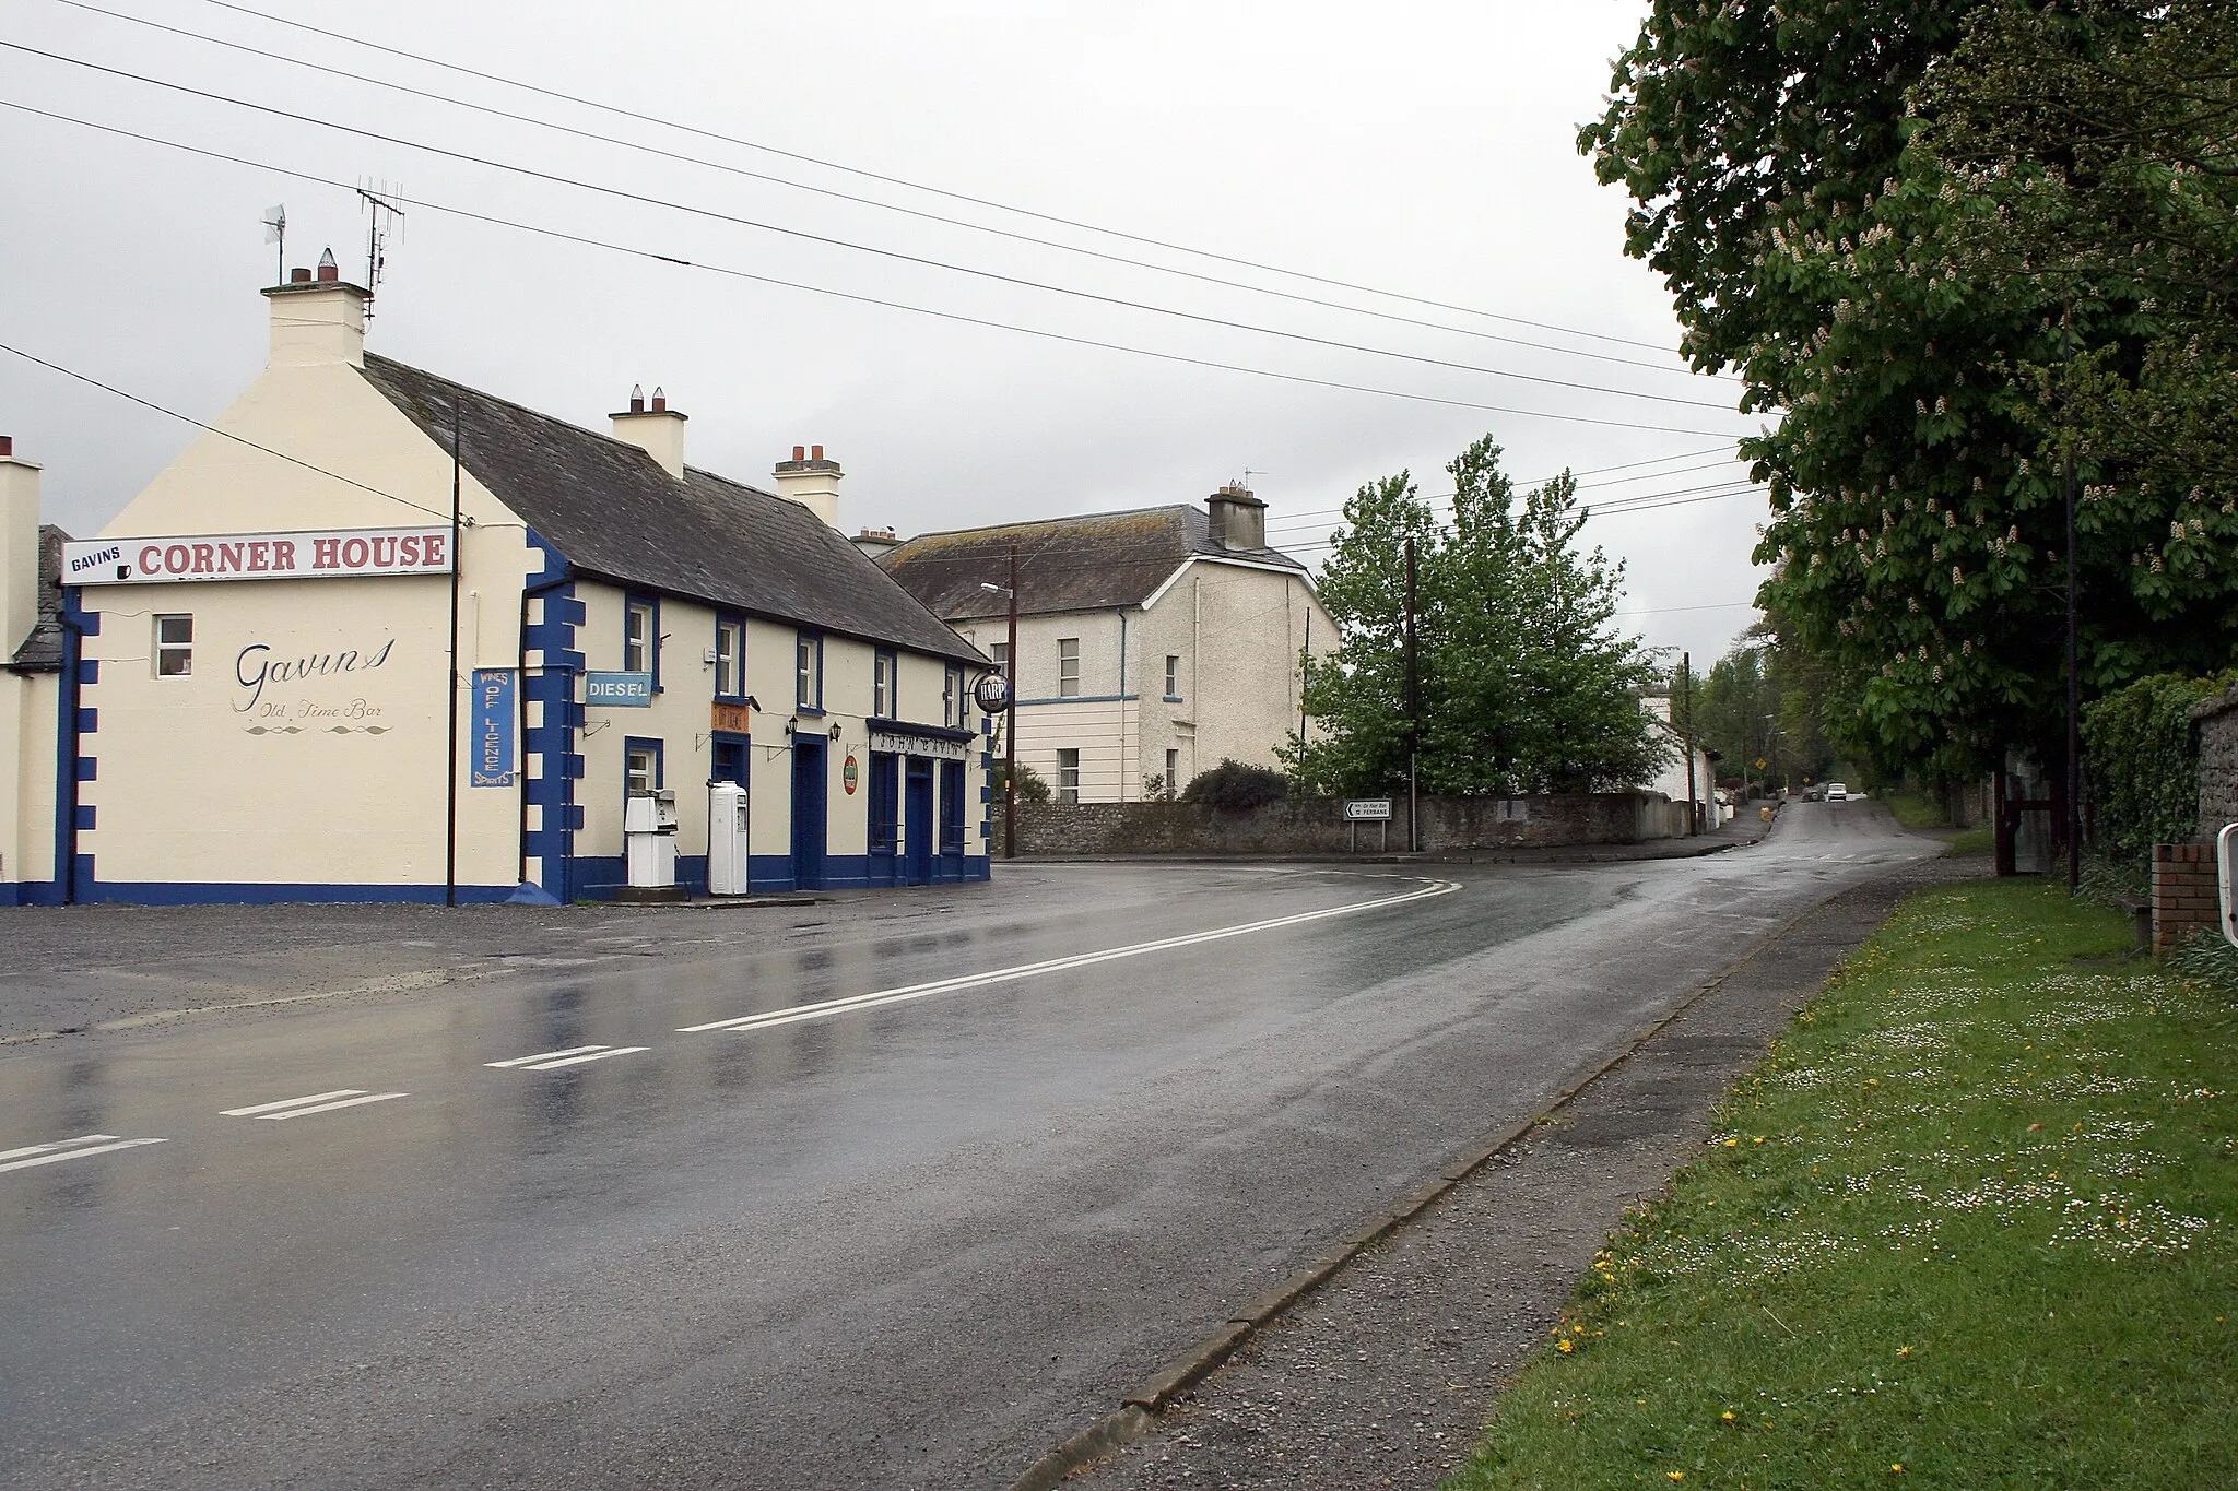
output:
M 1797 805 L 1699 861 L 1032 867 L 7 1046 L 0 1484 L 1007 1487 L 1938 847 Z

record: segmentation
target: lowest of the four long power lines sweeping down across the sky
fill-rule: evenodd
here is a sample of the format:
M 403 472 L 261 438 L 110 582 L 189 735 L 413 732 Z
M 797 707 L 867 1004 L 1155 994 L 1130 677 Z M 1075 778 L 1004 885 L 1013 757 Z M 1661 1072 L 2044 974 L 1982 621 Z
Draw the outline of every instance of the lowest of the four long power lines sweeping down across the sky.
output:
M 7 42 L 0 42 L 0 45 L 7 45 Z M 184 141 L 172 141 L 172 139 L 163 139 L 163 136 L 154 136 L 154 134 L 141 134 L 139 130 L 125 130 L 121 125 L 103 125 L 103 123 L 96 123 L 96 121 L 90 121 L 90 118 L 76 118 L 72 114 L 58 114 L 54 110 L 38 110 L 38 107 L 31 107 L 27 103 L 16 103 L 16 101 L 9 101 L 9 98 L 0 98 L 0 107 L 16 110 L 20 114 L 34 114 L 38 118 L 51 118 L 51 121 L 67 123 L 67 125 L 81 125 L 85 130 L 96 130 L 101 134 L 114 134 L 119 139 L 132 139 L 132 141 L 141 141 L 141 143 L 148 143 L 148 145 L 161 145 L 166 150 L 179 150 L 184 154 L 195 154 L 195 156 L 201 156 L 201 159 L 208 159 L 208 161 L 226 161 L 228 165 L 246 165 L 251 170 L 262 170 L 262 172 L 271 172 L 271 174 L 278 174 L 278 177 L 289 177 L 293 181 L 311 181 L 316 186 L 331 186 L 331 188 L 345 190 L 345 192 L 356 190 L 351 183 L 336 181 L 331 177 L 318 177 L 313 172 L 293 170 L 293 168 L 286 168 L 286 165 L 271 165 L 266 161 L 251 161 L 246 156 L 226 154 L 222 150 L 204 150 L 201 145 L 188 145 Z M 994 331 L 1014 331 L 1018 335 L 1043 338 L 1043 340 L 1050 340 L 1050 342 L 1068 342 L 1072 346 L 1097 346 L 1097 349 L 1103 349 L 1103 351 L 1128 353 L 1128 355 L 1135 355 L 1135 358 L 1153 358 L 1157 362 L 1175 362 L 1175 364 L 1186 364 L 1186 367 L 1204 367 L 1204 369 L 1215 369 L 1215 371 L 1224 371 L 1224 373 L 1249 373 L 1253 378 L 1271 378 L 1276 382 L 1296 382 L 1296 384 L 1303 384 L 1303 387 L 1336 389 L 1336 391 L 1343 391 L 1343 393 L 1372 393 L 1376 398 L 1401 398 L 1401 400 L 1408 400 L 1408 402 L 1441 405 L 1441 407 L 1448 407 L 1448 409 L 1477 409 L 1482 414 L 1513 414 L 1517 418 L 1555 420 L 1555 422 L 1562 422 L 1562 425 L 1598 425 L 1598 427 L 1605 427 L 1605 429 L 1636 429 L 1636 431 L 1649 431 L 1649 434 L 1732 438 L 1725 431 L 1717 431 L 1717 429 L 1690 429 L 1690 427 L 1681 427 L 1681 425 L 1636 425 L 1632 420 L 1605 420 L 1605 418 L 1593 418 L 1593 416 L 1585 416 L 1585 414 L 1551 414 L 1551 411 L 1544 411 L 1544 409 L 1515 409 L 1515 407 L 1508 407 L 1508 405 L 1486 405 L 1486 402 L 1466 400 L 1466 398 L 1441 398 L 1437 393 L 1408 393 L 1408 391 L 1401 391 L 1401 389 L 1379 389 L 1379 387 L 1372 387 L 1372 384 L 1343 382 L 1343 380 L 1334 380 L 1334 378 L 1309 378 L 1305 373 L 1280 373 L 1280 371 L 1273 371 L 1273 369 L 1249 367 L 1249 364 L 1242 364 L 1242 362 L 1220 362 L 1220 360 L 1213 360 L 1213 358 L 1193 358 L 1193 355 L 1186 355 L 1186 353 L 1155 351 L 1155 349 L 1148 349 L 1148 346 L 1130 346 L 1126 342 L 1106 342 L 1106 340 L 1099 340 L 1099 338 L 1083 338 L 1083 335 L 1072 335 L 1072 333 L 1065 333 L 1065 331 L 1045 331 L 1041 326 L 1021 326 L 1016 322 L 998 322 L 998 320 L 991 320 L 991 317 L 985 317 L 985 315 L 965 315 L 962 311 L 935 311 L 931 306 L 918 306 L 918 304 L 909 304 L 909 302 L 902 302 L 902 300 L 884 300 L 884 297 L 877 297 L 877 295 L 857 295 L 853 291 L 835 291 L 835 288 L 828 288 L 828 286 L 821 286 L 821 284 L 803 284 L 799 279 L 779 279 L 777 275 L 756 275 L 752 270 L 727 268 L 723 264 L 694 262 L 694 259 L 685 259 L 685 257 L 678 257 L 678 255 L 658 253 L 653 248 L 636 248 L 636 246 L 629 246 L 629 244 L 615 244 L 615 241 L 609 241 L 609 239 L 595 239 L 595 237 L 589 237 L 589 235 L 582 235 L 582 232 L 566 232 L 562 228 L 544 228 L 544 226 L 537 226 L 537 224 L 524 224 L 524 221 L 517 221 L 517 219 L 510 219 L 510 217 L 497 217 L 492 212 L 474 212 L 472 208 L 457 208 L 457 206 L 448 206 L 448 203 L 441 203 L 441 201 L 430 201 L 425 197 L 416 197 L 412 201 L 412 208 L 419 210 L 419 212 L 441 212 L 441 215 L 448 215 L 448 217 L 461 217 L 461 219 L 468 219 L 468 221 L 490 224 L 495 228 L 510 228 L 510 230 L 517 230 L 517 232 L 530 232 L 530 235 L 557 239 L 557 241 L 564 241 L 564 244 L 580 244 L 584 248 L 602 248 L 602 250 L 629 255 L 629 257 L 636 257 L 636 259 L 651 259 L 656 264 L 669 264 L 669 266 L 676 266 L 676 268 L 694 268 L 694 270 L 709 273 L 709 275 L 723 275 L 727 279 L 747 279 L 747 282 L 754 282 L 754 284 L 770 284 L 770 286 L 779 286 L 779 288 L 788 288 L 788 291 L 803 291 L 803 293 L 810 293 L 810 295 L 828 295 L 833 300 L 846 300 L 846 302 L 864 304 L 864 306 L 882 306 L 886 311 L 909 311 L 911 315 L 929 315 L 933 320 L 958 322 L 958 324 L 965 324 L 965 326 L 987 326 L 987 329 L 994 329 Z

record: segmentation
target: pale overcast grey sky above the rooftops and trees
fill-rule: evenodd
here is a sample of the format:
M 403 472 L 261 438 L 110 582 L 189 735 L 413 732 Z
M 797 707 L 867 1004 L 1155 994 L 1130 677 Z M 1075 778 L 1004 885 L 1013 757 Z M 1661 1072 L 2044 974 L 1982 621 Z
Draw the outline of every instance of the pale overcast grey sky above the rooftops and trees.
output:
M 848 472 L 841 516 L 850 530 L 909 534 L 1200 501 L 1249 472 L 1271 505 L 1276 541 L 1318 559 L 1314 545 L 1354 487 L 1408 467 L 1426 492 L 1441 494 L 1439 467 L 1484 431 L 1499 438 L 1520 478 L 1564 465 L 1654 463 L 1587 478 L 1589 501 L 1699 496 L 1746 481 L 1743 467 L 1712 463 L 1757 420 L 1732 411 L 1737 384 L 1687 376 L 1674 353 L 1656 351 L 1676 344 L 1667 297 L 1645 266 L 1623 257 L 1625 197 L 1596 186 L 1576 152 L 1576 125 L 1600 110 L 1609 60 L 1638 27 L 1638 0 L 246 0 L 347 38 L 718 136 L 1466 311 L 1155 248 L 620 118 L 210 0 L 94 2 L 718 163 L 495 118 L 60 0 L 9 0 L 0 40 L 394 136 L 260 114 L 25 51 L 4 56 L 7 103 L 257 163 L 0 110 L 11 201 L 0 232 L 0 342 L 197 418 L 224 409 L 264 362 L 264 300 L 255 291 L 275 266 L 260 230 L 269 206 L 286 203 L 291 264 L 311 264 L 331 244 L 345 277 L 365 273 L 367 217 L 354 192 L 282 174 L 293 170 L 403 188 L 407 217 L 376 302 L 376 351 L 593 429 L 604 429 L 631 384 L 660 384 L 692 416 L 687 458 L 745 481 L 765 481 L 792 445 L 821 443 Z M 1435 324 L 1032 246 L 739 172 Z M 22 458 L 47 467 L 47 521 L 81 534 L 107 523 L 192 434 L 9 355 L 0 355 L 0 431 L 16 436 Z M 1761 516 L 1761 494 L 1739 492 L 1611 510 L 1587 534 L 1629 561 L 1634 615 L 1625 624 L 1654 646 L 1692 648 L 1705 666 L 1752 619 L 1734 604 L 1755 592 L 1748 550 Z

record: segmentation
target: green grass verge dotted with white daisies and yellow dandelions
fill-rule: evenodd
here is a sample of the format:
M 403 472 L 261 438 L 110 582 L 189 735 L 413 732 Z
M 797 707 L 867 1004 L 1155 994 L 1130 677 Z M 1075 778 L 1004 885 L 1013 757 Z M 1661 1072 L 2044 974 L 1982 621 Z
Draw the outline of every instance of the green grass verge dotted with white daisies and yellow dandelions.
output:
M 1922 892 L 1632 1214 L 1448 1487 L 2238 1484 L 2238 1006 Z

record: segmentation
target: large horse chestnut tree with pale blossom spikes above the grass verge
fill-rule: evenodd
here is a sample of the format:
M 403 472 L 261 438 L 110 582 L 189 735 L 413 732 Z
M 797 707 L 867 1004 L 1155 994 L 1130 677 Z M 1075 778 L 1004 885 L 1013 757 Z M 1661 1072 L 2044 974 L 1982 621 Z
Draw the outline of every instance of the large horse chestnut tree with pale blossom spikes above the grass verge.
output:
M 1759 601 L 1828 664 L 1828 731 L 1929 778 L 2059 753 L 2066 541 L 2041 369 L 2126 335 L 2072 282 L 1969 262 L 1994 201 L 1909 143 L 1922 85 L 1960 69 L 1969 20 L 1994 11 L 1658 0 L 1580 132 L 1638 203 L 1627 248 L 1663 270 L 1694 364 L 1779 411 L 1743 443 L 1772 496 Z M 2216 536 L 2191 536 L 2200 503 L 2108 498 L 2099 476 L 2077 545 L 2088 686 L 2211 671 L 2238 635 L 2227 577 L 2178 583 L 2164 552 L 2171 532 Z

